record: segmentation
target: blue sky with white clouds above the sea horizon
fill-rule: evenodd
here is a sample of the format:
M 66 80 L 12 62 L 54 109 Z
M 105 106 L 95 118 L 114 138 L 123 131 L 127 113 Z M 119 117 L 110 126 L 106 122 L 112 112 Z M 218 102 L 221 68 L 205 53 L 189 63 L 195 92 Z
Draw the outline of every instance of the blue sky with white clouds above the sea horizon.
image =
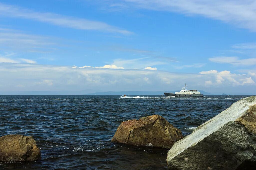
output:
M 0 2 L 0 92 L 256 94 L 256 1 Z

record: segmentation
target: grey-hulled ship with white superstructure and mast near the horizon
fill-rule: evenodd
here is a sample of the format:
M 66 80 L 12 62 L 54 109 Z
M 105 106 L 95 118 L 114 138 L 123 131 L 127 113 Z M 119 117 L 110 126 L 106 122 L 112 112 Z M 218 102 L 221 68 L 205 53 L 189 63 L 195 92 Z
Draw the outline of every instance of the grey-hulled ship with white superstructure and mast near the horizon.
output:
M 202 97 L 204 94 L 201 94 L 201 92 L 197 91 L 197 90 L 187 90 L 186 89 L 187 84 L 185 84 L 185 86 L 182 88 L 182 90 L 180 90 L 179 92 L 175 92 L 174 93 L 167 93 L 165 92 L 164 95 L 166 95 L 166 97 Z

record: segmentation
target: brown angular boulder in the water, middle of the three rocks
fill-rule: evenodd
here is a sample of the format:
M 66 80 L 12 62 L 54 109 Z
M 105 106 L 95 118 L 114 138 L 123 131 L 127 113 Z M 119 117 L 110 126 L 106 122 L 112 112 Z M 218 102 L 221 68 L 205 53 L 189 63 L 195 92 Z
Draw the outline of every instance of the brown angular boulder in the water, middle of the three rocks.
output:
M 173 127 L 162 116 L 153 115 L 122 122 L 111 142 L 169 149 L 182 138 L 179 129 Z

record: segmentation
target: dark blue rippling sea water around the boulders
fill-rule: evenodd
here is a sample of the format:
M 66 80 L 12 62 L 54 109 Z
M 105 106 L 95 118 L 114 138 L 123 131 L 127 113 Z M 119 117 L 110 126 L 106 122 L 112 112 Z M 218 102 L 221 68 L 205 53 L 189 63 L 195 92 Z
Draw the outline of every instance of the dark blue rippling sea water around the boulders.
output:
M 0 169 L 166 169 L 166 149 L 110 143 L 122 121 L 159 114 L 183 135 L 246 96 L 0 96 L 0 136 L 33 136 L 42 160 Z

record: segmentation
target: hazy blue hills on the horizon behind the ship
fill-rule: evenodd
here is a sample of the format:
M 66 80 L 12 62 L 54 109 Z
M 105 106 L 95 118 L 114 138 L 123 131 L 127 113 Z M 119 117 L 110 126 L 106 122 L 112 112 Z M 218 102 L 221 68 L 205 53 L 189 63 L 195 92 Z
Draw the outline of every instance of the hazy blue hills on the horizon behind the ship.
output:
M 176 90 L 180 91 L 180 90 Z M 213 95 L 203 90 L 198 90 L 204 95 Z M 169 93 L 175 93 L 175 91 L 168 91 Z M 85 95 L 164 95 L 164 91 L 106 91 L 106 92 L 95 92 L 87 93 Z

